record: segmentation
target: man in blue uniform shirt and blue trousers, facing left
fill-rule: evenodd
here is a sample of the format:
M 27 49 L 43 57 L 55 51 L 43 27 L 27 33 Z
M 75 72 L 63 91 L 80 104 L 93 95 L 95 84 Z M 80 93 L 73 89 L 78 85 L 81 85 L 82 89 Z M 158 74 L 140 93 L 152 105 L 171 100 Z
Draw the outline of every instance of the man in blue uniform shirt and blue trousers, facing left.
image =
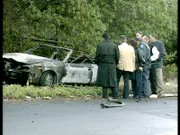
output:
M 141 97 L 149 97 L 149 72 L 151 67 L 150 61 L 150 49 L 149 46 L 142 40 L 143 34 L 141 31 L 136 32 L 136 40 L 140 40 L 140 49 L 143 51 L 145 64 L 143 67 L 143 81 L 142 81 L 142 96 Z

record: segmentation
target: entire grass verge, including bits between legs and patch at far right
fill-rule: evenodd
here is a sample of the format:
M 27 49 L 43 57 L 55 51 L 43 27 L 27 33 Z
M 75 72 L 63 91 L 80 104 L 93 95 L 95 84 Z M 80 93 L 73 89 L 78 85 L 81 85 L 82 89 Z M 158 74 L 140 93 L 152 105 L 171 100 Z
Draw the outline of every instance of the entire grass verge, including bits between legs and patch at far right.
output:
M 119 97 L 122 97 L 123 78 L 120 80 Z M 164 82 L 164 91 L 168 94 L 177 94 L 177 79 Z M 57 98 L 98 98 L 101 97 L 102 89 L 97 86 L 72 86 L 72 85 L 54 85 L 53 87 L 37 87 L 37 86 L 24 86 L 21 85 L 3 85 L 3 99 L 8 100 L 25 100 L 25 99 L 57 99 Z M 111 90 L 108 94 L 112 96 Z M 131 82 L 130 82 L 130 94 Z

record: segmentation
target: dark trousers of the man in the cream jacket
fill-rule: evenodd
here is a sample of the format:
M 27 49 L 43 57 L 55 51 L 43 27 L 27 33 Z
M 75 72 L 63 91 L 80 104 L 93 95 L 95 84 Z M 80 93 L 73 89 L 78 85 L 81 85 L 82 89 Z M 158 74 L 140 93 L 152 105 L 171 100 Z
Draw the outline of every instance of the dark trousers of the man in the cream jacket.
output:
M 119 88 L 119 81 L 121 79 L 121 76 L 123 75 L 123 80 L 124 80 L 123 98 L 128 98 L 129 97 L 129 72 L 119 70 L 116 68 L 116 73 L 117 73 L 117 88 Z

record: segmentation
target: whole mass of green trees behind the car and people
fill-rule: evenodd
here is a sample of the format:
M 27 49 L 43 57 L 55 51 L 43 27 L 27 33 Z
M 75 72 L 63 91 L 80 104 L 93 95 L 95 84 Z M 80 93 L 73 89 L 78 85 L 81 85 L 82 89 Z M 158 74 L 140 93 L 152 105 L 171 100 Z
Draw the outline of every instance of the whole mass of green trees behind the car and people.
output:
M 4 0 L 3 53 L 46 42 L 95 56 L 102 34 L 114 43 L 137 31 L 165 44 L 164 79 L 177 78 L 177 0 Z

